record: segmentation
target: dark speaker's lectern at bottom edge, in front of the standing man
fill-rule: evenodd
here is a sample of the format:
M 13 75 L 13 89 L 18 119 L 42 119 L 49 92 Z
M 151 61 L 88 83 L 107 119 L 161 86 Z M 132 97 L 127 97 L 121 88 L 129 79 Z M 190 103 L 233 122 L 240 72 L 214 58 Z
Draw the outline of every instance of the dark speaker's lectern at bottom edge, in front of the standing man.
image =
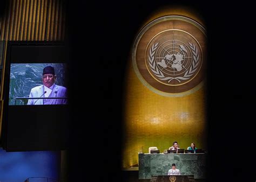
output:
M 153 180 L 152 180 L 153 179 Z M 157 177 L 152 177 L 150 181 L 155 181 L 156 182 L 191 182 L 194 181 L 194 175 L 165 175 L 165 176 L 157 176 Z

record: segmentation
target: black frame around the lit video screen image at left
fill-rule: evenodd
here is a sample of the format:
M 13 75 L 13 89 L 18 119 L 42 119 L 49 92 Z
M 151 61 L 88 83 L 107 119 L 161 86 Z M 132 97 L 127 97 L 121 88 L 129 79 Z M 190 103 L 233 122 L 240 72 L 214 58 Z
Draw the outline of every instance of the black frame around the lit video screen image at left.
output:
M 2 78 L 1 145 L 6 151 L 65 150 L 67 148 L 68 105 L 9 106 L 10 65 L 14 63 L 68 64 L 70 56 L 67 48 L 63 41 L 8 41 Z M 66 78 L 66 85 L 69 85 L 69 76 Z M 24 115 L 27 111 L 29 113 Z M 47 120 L 40 117 L 44 111 L 50 115 Z M 57 116 L 56 113 L 63 114 Z

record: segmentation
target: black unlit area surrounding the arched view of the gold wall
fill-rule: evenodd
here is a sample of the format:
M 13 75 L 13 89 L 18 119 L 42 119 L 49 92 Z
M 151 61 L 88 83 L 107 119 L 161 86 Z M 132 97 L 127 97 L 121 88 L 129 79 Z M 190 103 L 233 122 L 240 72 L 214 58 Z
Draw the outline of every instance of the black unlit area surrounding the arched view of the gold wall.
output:
M 69 2 L 73 75 L 70 179 L 91 181 L 96 177 L 118 181 L 121 176 L 126 61 L 140 26 L 162 5 L 173 4 L 171 1 Z M 252 153 L 245 150 L 250 151 L 254 146 L 253 8 L 246 2 L 179 1 L 175 5 L 190 6 L 206 20 L 208 181 L 251 179 Z M 92 151 L 83 150 L 84 146 Z M 104 155 L 98 154 L 99 151 Z M 90 166 L 90 170 L 85 166 Z M 244 169 L 246 174 L 242 172 Z

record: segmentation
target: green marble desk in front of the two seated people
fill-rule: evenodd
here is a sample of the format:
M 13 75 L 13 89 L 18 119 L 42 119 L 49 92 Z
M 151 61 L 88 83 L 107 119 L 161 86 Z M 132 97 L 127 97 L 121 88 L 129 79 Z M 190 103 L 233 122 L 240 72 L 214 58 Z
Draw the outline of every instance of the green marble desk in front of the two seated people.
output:
M 181 176 L 206 179 L 206 156 L 206 153 L 139 153 L 139 179 L 167 176 L 173 163 Z

